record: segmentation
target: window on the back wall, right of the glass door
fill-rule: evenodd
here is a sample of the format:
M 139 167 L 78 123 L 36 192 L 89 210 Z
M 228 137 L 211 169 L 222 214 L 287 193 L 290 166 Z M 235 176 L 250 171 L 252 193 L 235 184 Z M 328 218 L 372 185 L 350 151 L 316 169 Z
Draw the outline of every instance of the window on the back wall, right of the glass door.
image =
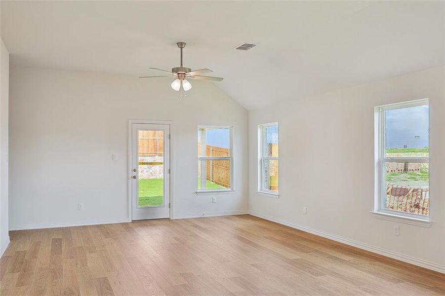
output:
M 233 189 L 232 127 L 198 127 L 198 191 Z

